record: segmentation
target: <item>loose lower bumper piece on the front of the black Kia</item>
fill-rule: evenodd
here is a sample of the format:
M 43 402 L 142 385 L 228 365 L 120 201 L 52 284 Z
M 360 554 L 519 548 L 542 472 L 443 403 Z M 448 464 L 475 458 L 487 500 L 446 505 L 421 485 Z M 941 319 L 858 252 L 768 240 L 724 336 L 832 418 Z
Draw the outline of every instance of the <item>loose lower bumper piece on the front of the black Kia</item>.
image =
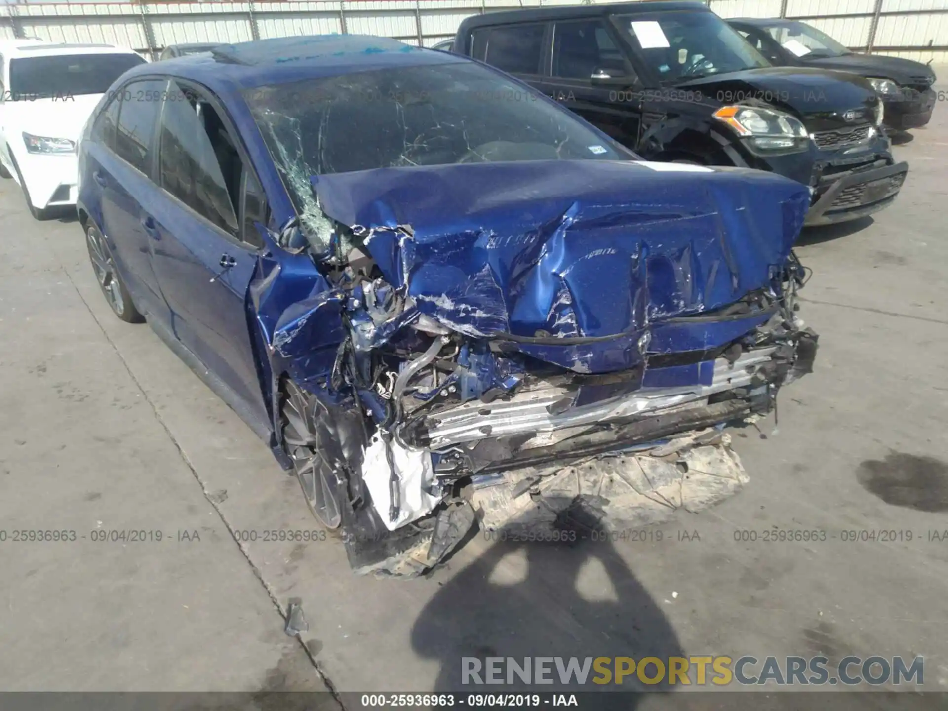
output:
M 831 225 L 854 220 L 888 207 L 902 190 L 908 163 L 829 176 L 829 187 L 820 186 L 816 202 L 807 213 L 806 225 Z

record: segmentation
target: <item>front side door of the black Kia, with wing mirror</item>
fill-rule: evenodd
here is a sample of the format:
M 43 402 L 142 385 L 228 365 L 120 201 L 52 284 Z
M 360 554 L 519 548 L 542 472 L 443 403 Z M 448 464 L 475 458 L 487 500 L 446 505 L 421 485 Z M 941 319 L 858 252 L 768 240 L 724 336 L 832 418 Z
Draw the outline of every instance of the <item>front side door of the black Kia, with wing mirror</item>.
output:
M 609 83 L 594 83 L 593 76 Z M 638 80 L 605 22 L 554 24 L 549 82 L 547 94 L 634 150 L 641 124 Z

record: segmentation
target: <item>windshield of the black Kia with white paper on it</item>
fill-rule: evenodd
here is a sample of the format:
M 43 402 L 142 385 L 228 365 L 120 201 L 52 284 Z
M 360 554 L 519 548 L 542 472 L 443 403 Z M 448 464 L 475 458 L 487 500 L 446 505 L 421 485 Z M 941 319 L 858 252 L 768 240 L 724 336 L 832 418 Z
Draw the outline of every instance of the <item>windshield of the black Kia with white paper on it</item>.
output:
M 714 12 L 657 12 L 616 19 L 662 83 L 771 65 Z

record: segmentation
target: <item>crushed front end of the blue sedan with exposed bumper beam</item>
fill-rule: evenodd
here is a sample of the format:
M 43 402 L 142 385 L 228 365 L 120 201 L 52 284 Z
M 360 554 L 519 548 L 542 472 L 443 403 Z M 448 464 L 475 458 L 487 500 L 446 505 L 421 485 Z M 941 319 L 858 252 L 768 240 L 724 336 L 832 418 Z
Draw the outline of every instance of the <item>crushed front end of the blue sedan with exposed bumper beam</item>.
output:
M 358 572 L 423 573 L 477 521 L 543 538 L 719 501 L 746 481 L 724 425 L 811 371 L 790 180 L 538 160 L 311 187 L 252 308 Z

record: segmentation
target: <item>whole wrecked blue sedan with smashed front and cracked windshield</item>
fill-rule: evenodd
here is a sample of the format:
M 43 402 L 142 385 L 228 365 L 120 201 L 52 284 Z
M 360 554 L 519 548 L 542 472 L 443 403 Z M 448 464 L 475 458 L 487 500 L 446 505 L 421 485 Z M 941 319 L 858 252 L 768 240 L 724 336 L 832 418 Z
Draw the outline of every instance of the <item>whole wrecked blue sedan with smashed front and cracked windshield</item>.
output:
M 272 448 L 358 572 L 576 540 L 746 481 L 811 370 L 810 194 L 652 164 L 500 72 L 358 36 L 147 64 L 80 146 L 105 298 Z

